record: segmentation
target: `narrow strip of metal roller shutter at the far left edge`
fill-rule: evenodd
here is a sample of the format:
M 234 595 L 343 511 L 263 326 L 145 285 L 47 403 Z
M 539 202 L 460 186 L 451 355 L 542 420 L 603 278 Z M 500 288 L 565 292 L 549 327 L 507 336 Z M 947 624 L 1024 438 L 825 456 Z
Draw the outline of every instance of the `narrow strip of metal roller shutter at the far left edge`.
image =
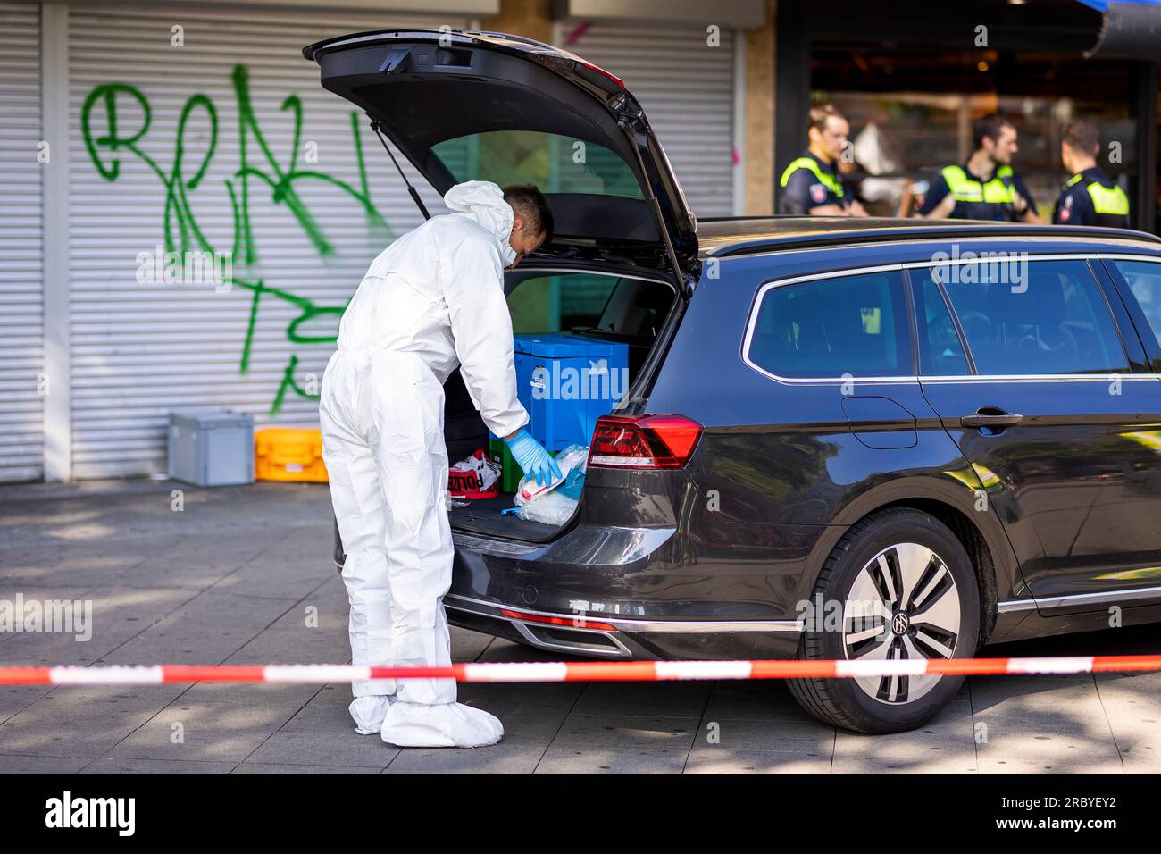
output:
M 41 170 L 46 166 L 37 162 L 41 9 L 33 3 L 0 3 L 0 481 L 36 480 L 43 465 Z

